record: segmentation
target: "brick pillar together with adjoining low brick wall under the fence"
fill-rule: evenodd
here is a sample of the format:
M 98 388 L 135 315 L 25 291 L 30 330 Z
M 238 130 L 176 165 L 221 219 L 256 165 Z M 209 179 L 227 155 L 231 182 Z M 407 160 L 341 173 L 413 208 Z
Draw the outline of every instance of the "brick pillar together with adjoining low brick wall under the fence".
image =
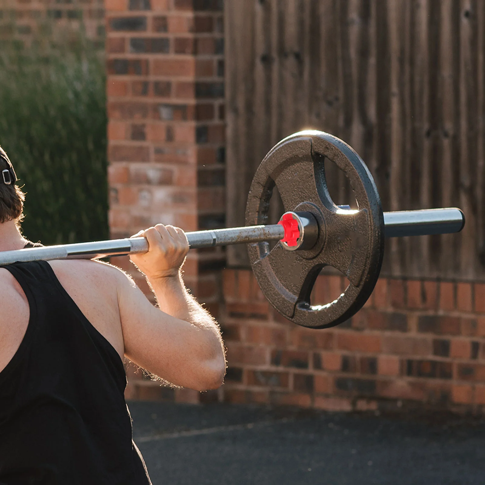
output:
M 158 222 L 224 226 L 222 1 L 105 5 L 112 236 Z M 186 283 L 221 322 L 225 386 L 202 394 L 161 387 L 128 366 L 127 397 L 483 410 L 485 285 L 381 278 L 349 322 L 310 330 L 275 312 L 249 270 L 220 272 L 225 260 L 211 248 L 191 251 L 185 266 Z M 113 262 L 131 270 L 126 258 Z M 335 299 L 342 285 L 319 276 L 314 303 Z

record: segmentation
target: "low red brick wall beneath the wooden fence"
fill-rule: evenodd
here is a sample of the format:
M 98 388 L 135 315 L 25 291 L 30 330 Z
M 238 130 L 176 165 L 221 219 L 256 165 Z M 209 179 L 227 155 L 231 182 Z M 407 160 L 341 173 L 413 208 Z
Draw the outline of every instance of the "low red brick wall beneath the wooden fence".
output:
M 338 297 L 342 285 L 319 276 L 317 303 Z M 225 270 L 224 296 L 228 402 L 484 409 L 483 284 L 381 278 L 350 321 L 323 330 L 281 317 L 249 270 Z

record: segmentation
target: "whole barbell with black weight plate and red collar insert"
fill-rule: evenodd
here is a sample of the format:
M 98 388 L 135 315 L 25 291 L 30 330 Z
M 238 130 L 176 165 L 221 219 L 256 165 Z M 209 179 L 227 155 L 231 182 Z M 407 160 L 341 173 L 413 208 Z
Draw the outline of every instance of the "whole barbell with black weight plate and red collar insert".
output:
M 356 210 L 332 201 L 325 159 L 349 179 Z M 267 225 L 275 186 L 286 212 L 278 224 Z M 465 217 L 456 208 L 383 212 L 372 175 L 357 153 L 333 135 L 308 130 L 283 139 L 263 159 L 251 184 L 245 222 L 243 227 L 187 232 L 189 246 L 247 243 L 253 272 L 273 307 L 294 323 L 325 328 L 352 317 L 371 295 L 385 237 L 459 232 Z M 279 242 L 270 250 L 270 241 Z M 143 237 L 62 244 L 1 252 L 0 265 L 146 251 Z M 312 306 L 310 293 L 324 266 L 339 270 L 349 284 L 333 302 Z

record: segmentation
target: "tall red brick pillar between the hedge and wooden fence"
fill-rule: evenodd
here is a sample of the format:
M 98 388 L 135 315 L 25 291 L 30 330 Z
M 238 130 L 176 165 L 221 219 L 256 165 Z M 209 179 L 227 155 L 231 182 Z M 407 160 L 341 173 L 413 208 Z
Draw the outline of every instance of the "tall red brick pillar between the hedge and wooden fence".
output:
M 110 226 L 113 238 L 157 223 L 225 224 L 222 1 L 106 0 Z M 191 251 L 185 282 L 214 315 L 221 248 Z M 113 260 L 131 270 L 128 259 Z M 145 280 L 135 274 L 147 292 Z M 197 401 L 129 368 L 127 396 Z

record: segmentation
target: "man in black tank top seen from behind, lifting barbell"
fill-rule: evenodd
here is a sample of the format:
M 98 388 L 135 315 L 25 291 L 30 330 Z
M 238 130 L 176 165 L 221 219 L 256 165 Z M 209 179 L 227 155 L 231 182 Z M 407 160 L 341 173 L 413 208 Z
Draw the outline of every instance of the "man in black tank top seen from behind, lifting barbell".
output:
M 0 251 L 32 244 L 15 182 L 0 148 Z M 132 442 L 124 356 L 176 386 L 222 384 L 219 328 L 182 281 L 184 232 L 160 224 L 142 235 L 149 251 L 131 260 L 159 308 L 109 264 L 0 267 L 0 484 L 150 484 Z

